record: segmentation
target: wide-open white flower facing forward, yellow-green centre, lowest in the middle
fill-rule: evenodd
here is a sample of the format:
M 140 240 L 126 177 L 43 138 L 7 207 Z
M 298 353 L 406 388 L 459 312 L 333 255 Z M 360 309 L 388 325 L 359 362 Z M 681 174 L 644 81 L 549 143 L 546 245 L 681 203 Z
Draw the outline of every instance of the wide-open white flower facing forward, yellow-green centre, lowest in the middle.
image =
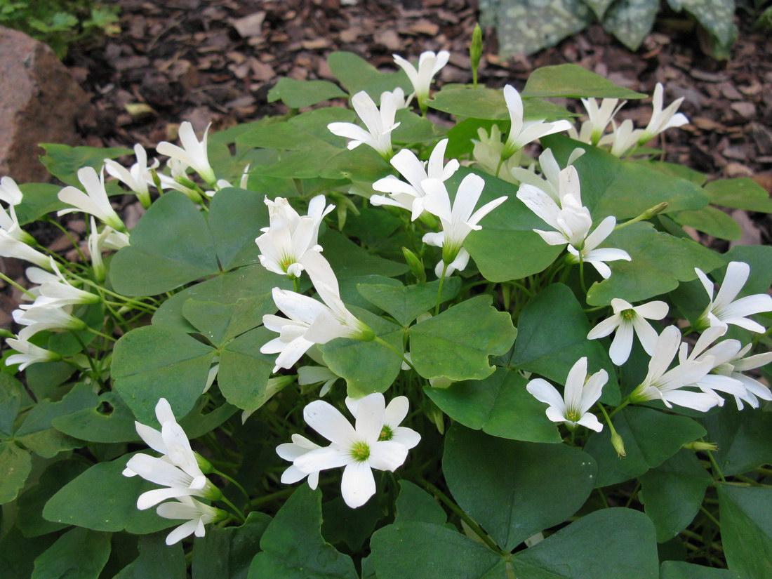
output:
M 383 394 L 368 394 L 359 401 L 354 427 L 337 408 L 321 400 L 307 405 L 303 418 L 332 444 L 305 452 L 295 459 L 294 466 L 307 473 L 343 466 L 340 491 L 351 508 L 364 505 L 374 495 L 371 469 L 394 471 L 408 456 L 407 446 L 381 438 L 385 425 Z

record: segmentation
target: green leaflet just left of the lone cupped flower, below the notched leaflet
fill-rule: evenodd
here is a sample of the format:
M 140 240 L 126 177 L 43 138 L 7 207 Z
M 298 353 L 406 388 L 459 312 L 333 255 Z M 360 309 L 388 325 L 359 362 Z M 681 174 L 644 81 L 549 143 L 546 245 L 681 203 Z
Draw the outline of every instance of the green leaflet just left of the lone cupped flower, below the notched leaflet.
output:
M 460 424 L 489 435 L 530 442 L 561 442 L 546 407 L 526 390 L 517 372 L 497 368 L 484 380 L 454 382 L 449 388 L 425 387 L 440 410 Z

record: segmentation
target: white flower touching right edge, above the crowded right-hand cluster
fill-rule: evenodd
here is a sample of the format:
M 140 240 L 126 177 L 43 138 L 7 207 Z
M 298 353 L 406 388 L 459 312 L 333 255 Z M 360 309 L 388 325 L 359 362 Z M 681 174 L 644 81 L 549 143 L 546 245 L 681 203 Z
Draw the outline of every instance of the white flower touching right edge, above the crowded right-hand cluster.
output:
M 772 296 L 766 293 L 757 293 L 753 296 L 741 297 L 735 300 L 740 289 L 748 280 L 750 275 L 750 266 L 745 262 L 730 262 L 726 266 L 726 276 L 723 283 L 713 299 L 713 282 L 701 269 L 694 268 L 699 281 L 703 283 L 705 291 L 708 293 L 710 303 L 705 311 L 696 321 L 695 326 L 703 329 L 709 326 L 721 326 L 727 323 L 733 323 L 746 330 L 763 334 L 764 326 L 758 322 L 750 320 L 747 316 L 754 313 L 772 311 Z

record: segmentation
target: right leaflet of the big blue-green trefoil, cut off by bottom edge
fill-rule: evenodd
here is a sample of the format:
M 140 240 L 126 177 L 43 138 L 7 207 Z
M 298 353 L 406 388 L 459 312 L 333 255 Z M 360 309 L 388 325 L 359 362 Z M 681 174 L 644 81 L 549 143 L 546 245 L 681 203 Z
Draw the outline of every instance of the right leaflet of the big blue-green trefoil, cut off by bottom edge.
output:
M 594 511 L 515 554 L 518 579 L 658 579 L 652 522 L 630 509 Z

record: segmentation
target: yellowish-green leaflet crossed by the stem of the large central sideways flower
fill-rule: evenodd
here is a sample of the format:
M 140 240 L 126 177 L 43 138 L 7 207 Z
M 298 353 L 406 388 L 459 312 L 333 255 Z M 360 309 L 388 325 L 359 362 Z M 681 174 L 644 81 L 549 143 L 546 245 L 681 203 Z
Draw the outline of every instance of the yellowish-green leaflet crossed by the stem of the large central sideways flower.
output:
M 375 335 L 402 351 L 402 329 L 396 324 L 359 308 L 351 307 L 354 316 L 367 323 Z M 346 379 L 348 395 L 361 398 L 372 392 L 387 391 L 399 374 L 402 361 L 393 351 L 378 342 L 337 338 L 320 345 L 324 363 Z M 373 368 L 378 368 L 377 372 Z

